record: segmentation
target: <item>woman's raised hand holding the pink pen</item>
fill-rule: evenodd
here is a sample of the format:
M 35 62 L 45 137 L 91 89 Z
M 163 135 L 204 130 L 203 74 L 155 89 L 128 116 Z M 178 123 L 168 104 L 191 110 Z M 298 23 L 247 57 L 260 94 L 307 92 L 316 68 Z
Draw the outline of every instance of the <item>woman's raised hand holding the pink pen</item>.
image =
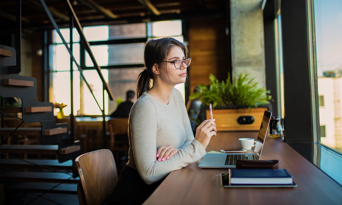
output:
M 195 139 L 202 144 L 204 149 L 207 149 L 211 137 L 216 136 L 217 130 L 214 121 L 215 119 L 205 120 L 196 129 Z

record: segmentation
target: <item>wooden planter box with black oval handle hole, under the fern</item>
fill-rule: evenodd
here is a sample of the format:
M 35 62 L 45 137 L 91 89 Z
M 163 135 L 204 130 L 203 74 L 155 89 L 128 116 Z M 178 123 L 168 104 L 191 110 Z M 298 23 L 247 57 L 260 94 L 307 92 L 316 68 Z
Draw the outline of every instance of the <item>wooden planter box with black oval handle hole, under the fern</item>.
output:
M 218 131 L 259 131 L 265 110 L 272 111 L 272 105 L 252 107 L 251 110 L 246 106 L 216 106 L 212 112 Z M 202 108 L 202 116 L 205 116 L 205 119 L 210 119 L 209 107 Z M 252 116 L 254 122 L 239 124 L 237 119 L 241 116 Z

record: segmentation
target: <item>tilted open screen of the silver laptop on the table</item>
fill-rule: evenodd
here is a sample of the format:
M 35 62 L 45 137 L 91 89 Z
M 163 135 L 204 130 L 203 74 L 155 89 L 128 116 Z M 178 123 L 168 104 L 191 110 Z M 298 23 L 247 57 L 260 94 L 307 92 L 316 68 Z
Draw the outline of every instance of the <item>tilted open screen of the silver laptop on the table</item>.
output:
M 272 112 L 265 110 L 264 116 L 262 117 L 257 143 L 254 146 L 254 157 L 259 160 L 261 156 L 262 147 L 264 145 L 265 137 L 267 135 L 269 122 L 271 121 Z

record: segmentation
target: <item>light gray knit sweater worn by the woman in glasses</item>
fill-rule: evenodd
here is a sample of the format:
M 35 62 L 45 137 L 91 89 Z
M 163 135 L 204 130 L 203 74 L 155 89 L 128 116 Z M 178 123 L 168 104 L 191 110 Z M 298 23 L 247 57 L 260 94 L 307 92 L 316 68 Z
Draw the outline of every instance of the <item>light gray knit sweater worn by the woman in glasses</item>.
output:
M 128 137 L 127 166 L 138 170 L 147 184 L 157 182 L 206 154 L 201 143 L 194 139 L 183 97 L 175 88 L 168 105 L 146 92 L 136 100 L 129 116 Z M 179 152 L 159 162 L 157 149 L 163 145 L 172 145 Z

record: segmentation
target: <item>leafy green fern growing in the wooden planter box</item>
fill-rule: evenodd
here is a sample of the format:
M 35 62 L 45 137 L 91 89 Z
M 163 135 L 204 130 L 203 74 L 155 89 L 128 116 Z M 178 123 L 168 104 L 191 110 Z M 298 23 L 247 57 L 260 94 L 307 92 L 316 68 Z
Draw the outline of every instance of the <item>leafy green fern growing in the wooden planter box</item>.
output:
M 235 75 L 233 83 L 230 73 L 226 81 L 221 81 L 213 75 L 209 76 L 210 84 L 199 84 L 196 92 L 189 96 L 190 99 L 198 99 L 203 105 L 209 106 L 238 106 L 244 105 L 251 109 L 252 106 L 268 104 L 272 96 L 270 91 L 257 86 L 254 78 L 248 78 L 248 73 Z

